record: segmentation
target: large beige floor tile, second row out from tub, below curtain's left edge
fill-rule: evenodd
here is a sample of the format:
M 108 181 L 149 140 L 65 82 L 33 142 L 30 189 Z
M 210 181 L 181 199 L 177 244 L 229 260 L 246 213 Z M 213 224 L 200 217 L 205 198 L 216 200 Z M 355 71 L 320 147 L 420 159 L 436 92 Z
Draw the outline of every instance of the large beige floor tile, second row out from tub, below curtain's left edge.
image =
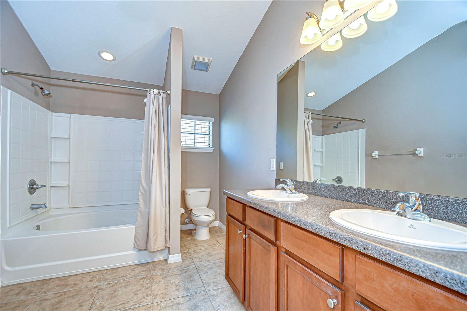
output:
M 122 310 L 151 303 L 151 277 L 101 284 L 91 310 Z

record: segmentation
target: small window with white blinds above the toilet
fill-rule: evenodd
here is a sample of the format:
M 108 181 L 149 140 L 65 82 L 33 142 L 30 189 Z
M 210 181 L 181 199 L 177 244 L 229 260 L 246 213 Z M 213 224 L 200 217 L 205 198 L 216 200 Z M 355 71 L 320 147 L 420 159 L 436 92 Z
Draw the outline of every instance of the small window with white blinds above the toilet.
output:
M 212 152 L 214 118 L 182 114 L 182 151 Z

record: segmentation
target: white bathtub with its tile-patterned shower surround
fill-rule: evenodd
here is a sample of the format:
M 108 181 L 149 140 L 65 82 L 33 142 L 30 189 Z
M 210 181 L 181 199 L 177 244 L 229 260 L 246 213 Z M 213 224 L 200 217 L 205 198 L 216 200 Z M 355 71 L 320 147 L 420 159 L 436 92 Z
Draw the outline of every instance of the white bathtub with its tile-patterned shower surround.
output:
M 50 113 L 4 87 L 1 92 L 1 283 L 165 259 L 167 248 L 148 252 L 133 247 L 143 121 Z M 39 114 L 40 124 L 36 120 Z M 35 133 L 37 128 L 40 133 Z M 20 130 L 19 139 L 12 129 Z M 79 148 L 77 137 L 86 148 Z M 78 150 L 82 153 L 77 156 Z M 23 164 L 18 168 L 12 159 Z M 41 166 L 28 165 L 36 160 Z M 85 174 L 77 181 L 80 172 Z M 13 174 L 24 180 L 10 179 Z M 30 178 L 47 188 L 25 195 Z M 79 182 L 86 184 L 85 191 L 75 191 Z M 88 190 L 92 196 L 87 196 Z M 121 192 L 121 199 L 118 194 L 112 196 L 113 192 Z M 85 193 L 85 201 L 76 202 L 76 193 Z M 30 203 L 44 202 L 47 210 L 29 209 Z M 12 208 L 20 209 L 19 217 L 11 218 L 18 214 Z M 36 225 L 41 226 L 40 231 L 34 229 Z

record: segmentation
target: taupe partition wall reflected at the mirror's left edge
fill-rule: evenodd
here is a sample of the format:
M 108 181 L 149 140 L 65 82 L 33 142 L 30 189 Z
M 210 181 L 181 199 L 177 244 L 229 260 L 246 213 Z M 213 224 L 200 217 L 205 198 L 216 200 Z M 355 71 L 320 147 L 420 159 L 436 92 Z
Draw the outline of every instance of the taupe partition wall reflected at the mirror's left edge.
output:
M 303 61 L 295 63 L 277 83 L 277 178 L 303 179 L 304 84 Z M 279 170 L 279 162 L 283 162 L 283 170 Z

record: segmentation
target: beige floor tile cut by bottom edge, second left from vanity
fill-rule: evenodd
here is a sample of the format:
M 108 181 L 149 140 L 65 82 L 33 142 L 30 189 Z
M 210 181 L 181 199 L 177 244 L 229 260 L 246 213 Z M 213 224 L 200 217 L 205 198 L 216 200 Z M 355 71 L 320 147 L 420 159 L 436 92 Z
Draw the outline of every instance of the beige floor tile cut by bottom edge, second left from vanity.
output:
M 161 311 L 214 311 L 211 301 L 205 292 L 189 296 L 161 301 L 152 305 L 152 310 Z

